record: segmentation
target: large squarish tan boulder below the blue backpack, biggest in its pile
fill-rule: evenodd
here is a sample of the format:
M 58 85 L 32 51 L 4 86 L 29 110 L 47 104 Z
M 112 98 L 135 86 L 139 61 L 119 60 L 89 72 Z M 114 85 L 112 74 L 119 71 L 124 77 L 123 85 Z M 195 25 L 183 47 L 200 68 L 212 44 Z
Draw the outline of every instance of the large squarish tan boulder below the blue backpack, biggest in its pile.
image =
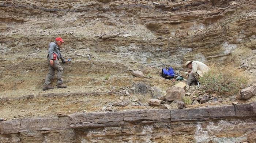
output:
M 182 87 L 169 87 L 166 90 L 166 99 L 168 101 L 182 100 L 185 97 L 185 90 Z

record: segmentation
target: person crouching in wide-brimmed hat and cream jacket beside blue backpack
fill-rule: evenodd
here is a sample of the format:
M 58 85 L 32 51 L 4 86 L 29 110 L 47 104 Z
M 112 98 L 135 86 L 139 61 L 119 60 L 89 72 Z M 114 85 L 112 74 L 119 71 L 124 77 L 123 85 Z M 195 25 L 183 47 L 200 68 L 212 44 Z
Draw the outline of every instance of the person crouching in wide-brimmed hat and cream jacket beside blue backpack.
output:
M 187 87 L 196 83 L 200 77 L 209 71 L 209 67 L 200 61 L 187 61 L 185 67 L 192 69 L 188 75 Z

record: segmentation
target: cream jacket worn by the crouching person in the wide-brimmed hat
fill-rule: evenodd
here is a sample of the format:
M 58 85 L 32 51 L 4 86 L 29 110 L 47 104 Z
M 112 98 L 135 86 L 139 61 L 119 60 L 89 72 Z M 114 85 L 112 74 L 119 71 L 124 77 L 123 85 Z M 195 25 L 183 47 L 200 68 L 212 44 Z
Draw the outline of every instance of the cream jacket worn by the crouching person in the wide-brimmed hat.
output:
M 203 77 L 203 75 L 206 72 L 208 72 L 209 69 L 210 68 L 206 64 L 195 60 L 195 61 L 192 62 L 192 71 L 191 71 L 190 74 L 197 73 L 200 77 Z

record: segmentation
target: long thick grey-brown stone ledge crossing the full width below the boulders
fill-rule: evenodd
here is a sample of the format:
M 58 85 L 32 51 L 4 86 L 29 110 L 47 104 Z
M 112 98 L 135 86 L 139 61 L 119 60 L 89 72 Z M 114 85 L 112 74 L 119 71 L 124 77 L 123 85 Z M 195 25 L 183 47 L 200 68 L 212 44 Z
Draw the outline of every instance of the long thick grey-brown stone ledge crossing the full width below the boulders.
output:
M 177 110 L 132 110 L 127 112 L 80 113 L 49 118 L 25 118 L 0 122 L 1 134 L 60 129 L 101 128 L 191 120 L 255 118 L 256 102 Z

